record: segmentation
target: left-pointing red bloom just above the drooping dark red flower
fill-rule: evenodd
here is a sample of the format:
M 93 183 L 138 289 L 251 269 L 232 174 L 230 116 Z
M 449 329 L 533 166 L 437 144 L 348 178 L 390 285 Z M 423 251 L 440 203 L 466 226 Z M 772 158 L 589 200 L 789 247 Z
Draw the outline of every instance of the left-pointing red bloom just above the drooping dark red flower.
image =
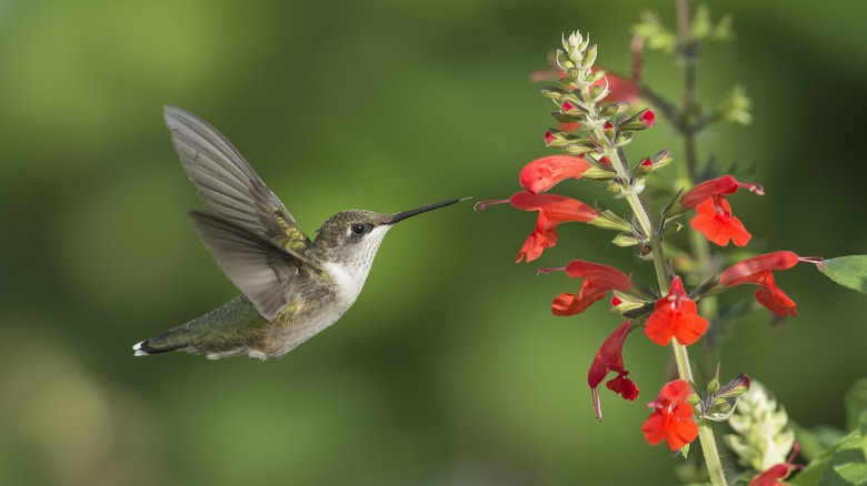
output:
M 572 260 L 560 269 L 539 269 L 539 272 L 547 273 L 558 270 L 565 270 L 566 274 L 572 279 L 586 279 L 581 283 L 581 290 L 577 296 L 575 294 L 560 294 L 554 300 L 551 305 L 554 315 L 578 314 L 594 302 L 605 297 L 605 293 L 610 290 L 626 291 L 632 287 L 629 276 L 619 270 L 581 260 Z

